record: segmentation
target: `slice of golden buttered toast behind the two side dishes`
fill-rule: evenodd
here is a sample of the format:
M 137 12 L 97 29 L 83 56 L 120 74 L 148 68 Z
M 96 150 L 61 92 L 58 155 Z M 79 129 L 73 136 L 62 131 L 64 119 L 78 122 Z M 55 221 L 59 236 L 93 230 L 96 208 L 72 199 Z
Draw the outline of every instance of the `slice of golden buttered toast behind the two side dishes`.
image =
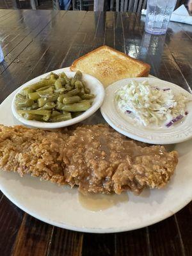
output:
M 147 77 L 150 65 L 104 45 L 75 60 L 70 70 L 90 74 L 107 87 L 124 78 Z

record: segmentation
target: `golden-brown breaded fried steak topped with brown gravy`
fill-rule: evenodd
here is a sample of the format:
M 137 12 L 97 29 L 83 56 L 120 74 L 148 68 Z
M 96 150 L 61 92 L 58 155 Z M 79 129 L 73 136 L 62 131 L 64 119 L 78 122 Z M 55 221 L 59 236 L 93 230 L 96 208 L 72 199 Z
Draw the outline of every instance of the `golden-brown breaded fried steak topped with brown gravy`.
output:
M 177 152 L 129 140 L 108 125 L 56 132 L 0 125 L 1 170 L 79 186 L 83 193 L 162 188 L 177 162 Z

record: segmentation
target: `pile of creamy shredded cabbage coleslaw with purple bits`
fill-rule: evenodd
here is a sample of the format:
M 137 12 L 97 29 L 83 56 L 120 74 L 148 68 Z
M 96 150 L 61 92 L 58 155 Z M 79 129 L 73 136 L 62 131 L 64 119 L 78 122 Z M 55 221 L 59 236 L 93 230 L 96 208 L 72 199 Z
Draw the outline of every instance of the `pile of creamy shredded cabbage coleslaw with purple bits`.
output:
M 150 86 L 147 81 L 131 81 L 116 92 L 115 100 L 121 111 L 131 113 L 141 124 L 148 126 L 185 116 L 186 104 L 191 99 L 183 93 L 173 94 L 170 88 Z

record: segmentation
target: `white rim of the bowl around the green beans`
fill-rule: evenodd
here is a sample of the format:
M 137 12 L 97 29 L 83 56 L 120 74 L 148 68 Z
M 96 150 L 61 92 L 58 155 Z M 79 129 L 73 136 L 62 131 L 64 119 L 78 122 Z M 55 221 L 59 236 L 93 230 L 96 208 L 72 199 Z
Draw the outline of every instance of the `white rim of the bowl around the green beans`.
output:
M 67 69 L 60 68 L 60 69 L 54 70 L 52 72 L 54 72 L 55 74 L 60 74 L 61 72 L 64 72 L 64 71 L 68 77 L 74 77 L 74 75 L 76 74 L 76 72 L 68 71 L 68 68 Z M 77 124 L 77 123 L 83 121 L 84 119 L 93 115 L 93 113 L 95 113 L 97 111 L 97 109 L 99 109 L 100 106 L 102 105 L 102 102 L 104 100 L 104 87 L 102 86 L 102 83 L 100 83 L 100 81 L 97 80 L 93 76 L 83 74 L 83 81 L 86 82 L 86 84 L 87 84 L 88 88 L 90 88 L 91 92 L 93 94 L 95 94 L 95 98 L 93 99 L 93 104 L 92 104 L 91 108 L 84 111 L 83 114 L 81 114 L 75 118 L 72 118 L 72 119 L 66 120 L 66 121 L 62 121 L 62 122 L 48 123 L 48 122 L 39 122 L 39 121 L 35 121 L 35 120 L 26 120 L 25 118 L 23 118 L 22 116 L 20 116 L 17 113 L 17 109 L 15 106 L 15 97 L 16 97 L 17 93 L 19 93 L 23 90 L 23 88 L 29 86 L 30 84 L 40 81 L 40 79 L 48 76 L 49 73 L 50 72 L 43 74 L 41 76 L 35 77 L 31 81 L 28 81 L 27 83 L 20 86 L 17 90 L 15 90 L 15 96 L 13 97 L 13 101 L 12 101 L 12 113 L 15 116 L 15 118 L 17 118 L 17 120 L 19 120 L 19 122 L 21 122 L 22 124 L 26 124 L 31 127 L 43 128 L 43 129 L 54 129 L 54 128 L 65 127 L 65 126 Z

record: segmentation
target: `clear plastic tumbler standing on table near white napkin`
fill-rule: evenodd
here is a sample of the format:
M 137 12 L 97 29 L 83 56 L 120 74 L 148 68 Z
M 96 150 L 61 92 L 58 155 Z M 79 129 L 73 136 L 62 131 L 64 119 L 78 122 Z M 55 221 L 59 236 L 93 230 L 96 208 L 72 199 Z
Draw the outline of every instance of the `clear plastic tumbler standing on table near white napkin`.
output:
M 166 33 L 177 0 L 148 0 L 145 31 L 154 35 Z

